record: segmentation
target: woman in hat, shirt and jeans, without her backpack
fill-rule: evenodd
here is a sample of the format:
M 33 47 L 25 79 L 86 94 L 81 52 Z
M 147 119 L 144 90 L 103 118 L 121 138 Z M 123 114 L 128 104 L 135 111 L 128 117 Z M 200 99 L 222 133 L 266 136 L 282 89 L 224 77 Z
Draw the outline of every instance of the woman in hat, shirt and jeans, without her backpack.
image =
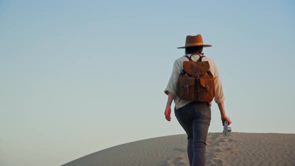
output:
M 227 120 L 229 125 L 231 121 L 225 114 L 223 104 L 224 95 L 216 64 L 212 59 L 203 56 L 203 53 L 201 53 L 203 47 L 209 46 L 212 45 L 203 44 L 202 36 L 198 34 L 195 36 L 187 35 L 185 46 L 178 48 L 185 48 L 185 55 L 190 56 L 193 61 L 197 61 L 199 58 L 201 58 L 201 61 L 208 61 L 209 70 L 214 76 L 214 100 L 220 110 L 222 125 L 224 124 L 224 120 Z M 178 77 L 183 69 L 183 61 L 188 61 L 188 58 L 182 56 L 174 61 L 172 74 L 164 90 L 165 94 L 168 95 L 164 114 L 165 118 L 170 121 L 171 103 L 174 100 L 175 116 L 187 134 L 189 164 L 205 165 L 206 137 L 211 121 L 211 102 L 184 100 L 177 96 Z

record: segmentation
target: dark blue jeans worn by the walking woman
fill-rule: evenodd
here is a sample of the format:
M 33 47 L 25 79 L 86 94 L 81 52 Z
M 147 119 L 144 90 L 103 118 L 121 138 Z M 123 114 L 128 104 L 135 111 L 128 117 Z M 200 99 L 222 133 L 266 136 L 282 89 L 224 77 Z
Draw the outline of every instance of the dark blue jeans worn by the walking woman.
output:
M 179 109 L 175 116 L 187 134 L 187 155 L 190 165 L 205 165 L 206 138 L 211 121 L 211 107 L 207 102 L 190 102 Z

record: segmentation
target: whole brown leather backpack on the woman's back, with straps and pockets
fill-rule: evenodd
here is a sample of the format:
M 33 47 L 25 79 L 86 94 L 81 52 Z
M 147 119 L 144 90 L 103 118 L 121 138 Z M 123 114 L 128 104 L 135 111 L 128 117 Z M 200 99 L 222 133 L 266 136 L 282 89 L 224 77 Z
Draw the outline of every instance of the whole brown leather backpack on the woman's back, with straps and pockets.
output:
M 193 61 L 191 55 L 185 55 L 189 61 L 183 61 L 183 69 L 178 78 L 177 95 L 184 100 L 211 102 L 215 96 L 215 89 L 209 62 L 202 61 L 203 56 L 200 55 L 197 61 Z

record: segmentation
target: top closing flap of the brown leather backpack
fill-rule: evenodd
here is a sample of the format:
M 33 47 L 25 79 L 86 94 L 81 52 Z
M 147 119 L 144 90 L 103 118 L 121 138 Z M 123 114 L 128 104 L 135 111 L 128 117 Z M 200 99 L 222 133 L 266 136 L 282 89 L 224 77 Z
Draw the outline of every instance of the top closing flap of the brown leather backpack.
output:
M 204 74 L 210 69 L 208 61 L 183 61 L 183 70 L 189 75 Z

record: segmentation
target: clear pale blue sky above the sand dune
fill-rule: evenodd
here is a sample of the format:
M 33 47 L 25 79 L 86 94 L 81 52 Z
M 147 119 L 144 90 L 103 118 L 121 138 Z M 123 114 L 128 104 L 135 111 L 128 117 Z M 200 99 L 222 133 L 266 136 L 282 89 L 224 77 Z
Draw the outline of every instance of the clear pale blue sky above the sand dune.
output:
M 294 18 L 293 0 L 0 0 L 0 165 L 184 133 L 163 91 L 187 34 L 213 45 L 233 131 L 295 133 Z

